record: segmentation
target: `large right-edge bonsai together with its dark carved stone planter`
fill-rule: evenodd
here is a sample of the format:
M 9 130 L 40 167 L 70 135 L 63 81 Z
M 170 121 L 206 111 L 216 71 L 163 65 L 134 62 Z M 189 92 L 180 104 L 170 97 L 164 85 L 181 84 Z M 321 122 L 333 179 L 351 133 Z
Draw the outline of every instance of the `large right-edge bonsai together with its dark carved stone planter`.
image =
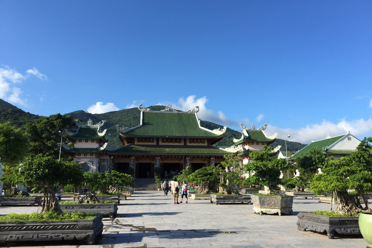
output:
M 324 220 L 324 217 L 319 217 L 317 213 L 300 213 L 297 221 L 298 230 L 326 232 L 329 238 L 333 238 L 335 233 L 360 234 L 363 232 L 361 229 L 366 225 L 358 226 L 357 215 L 365 211 L 371 212 L 367 198 L 367 192 L 372 191 L 371 143 L 371 137 L 365 138 L 356 147 L 355 152 L 341 157 L 341 160 L 325 159 L 322 173 L 314 176 L 311 186 L 315 194 L 332 191 L 336 196 L 334 199 L 337 202 L 337 208 L 330 211 L 333 215 L 333 222 Z M 350 194 L 351 190 L 355 190 L 356 193 Z M 345 215 L 351 217 L 344 217 Z M 368 233 L 372 229 L 371 223 L 367 225 L 367 228 Z

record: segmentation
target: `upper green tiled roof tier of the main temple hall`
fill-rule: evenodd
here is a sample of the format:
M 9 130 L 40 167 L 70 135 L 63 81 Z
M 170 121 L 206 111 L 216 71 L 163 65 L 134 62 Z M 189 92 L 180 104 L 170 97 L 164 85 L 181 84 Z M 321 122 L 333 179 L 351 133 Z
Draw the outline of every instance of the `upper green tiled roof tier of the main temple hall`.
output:
M 201 128 L 195 113 L 186 112 L 141 112 L 142 126 L 128 132 L 124 137 L 171 137 L 171 138 L 221 138 Z

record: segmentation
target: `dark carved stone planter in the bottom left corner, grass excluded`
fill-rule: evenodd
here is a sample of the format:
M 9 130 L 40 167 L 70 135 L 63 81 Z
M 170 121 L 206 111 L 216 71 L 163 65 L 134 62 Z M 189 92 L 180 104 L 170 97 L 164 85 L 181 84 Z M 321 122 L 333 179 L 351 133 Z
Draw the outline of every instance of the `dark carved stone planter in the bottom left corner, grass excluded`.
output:
M 18 241 L 86 240 L 93 245 L 102 235 L 102 215 L 93 220 L 0 223 L 0 243 Z M 53 242 L 55 244 L 55 242 Z

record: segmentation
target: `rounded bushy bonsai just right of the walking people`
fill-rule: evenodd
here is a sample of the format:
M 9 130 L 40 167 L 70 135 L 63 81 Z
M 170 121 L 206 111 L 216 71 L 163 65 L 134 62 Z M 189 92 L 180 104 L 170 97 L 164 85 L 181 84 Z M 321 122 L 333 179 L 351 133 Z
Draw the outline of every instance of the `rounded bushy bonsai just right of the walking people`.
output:
M 189 175 L 189 179 L 195 186 L 198 186 L 200 194 L 216 193 L 218 191 L 220 171 L 221 167 L 219 165 L 216 167 L 205 166 Z

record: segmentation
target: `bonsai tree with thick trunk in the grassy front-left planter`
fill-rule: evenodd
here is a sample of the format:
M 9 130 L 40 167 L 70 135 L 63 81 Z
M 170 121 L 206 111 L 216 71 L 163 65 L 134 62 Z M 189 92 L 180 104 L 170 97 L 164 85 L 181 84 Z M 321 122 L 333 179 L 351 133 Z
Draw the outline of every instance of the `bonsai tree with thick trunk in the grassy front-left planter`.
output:
M 38 154 L 27 157 L 16 174 L 18 182 L 32 187 L 33 192 L 43 192 L 44 201 L 41 212 L 60 211 L 56 185 L 80 185 L 83 171 L 75 161 L 63 161 L 51 156 Z

